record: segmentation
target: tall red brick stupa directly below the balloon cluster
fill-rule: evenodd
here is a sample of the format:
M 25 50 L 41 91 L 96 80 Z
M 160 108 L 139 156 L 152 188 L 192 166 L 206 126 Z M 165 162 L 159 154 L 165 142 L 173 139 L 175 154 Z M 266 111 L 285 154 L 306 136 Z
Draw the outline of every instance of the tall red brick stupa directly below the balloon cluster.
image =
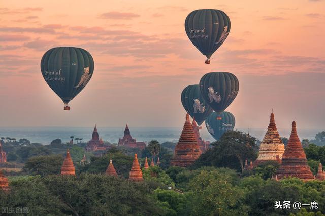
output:
M 194 163 L 201 154 L 198 140 L 191 122 L 189 121 L 189 114 L 186 114 L 186 120 L 184 123 L 182 134 L 175 147 L 175 153 L 171 160 L 172 166 L 186 167 Z

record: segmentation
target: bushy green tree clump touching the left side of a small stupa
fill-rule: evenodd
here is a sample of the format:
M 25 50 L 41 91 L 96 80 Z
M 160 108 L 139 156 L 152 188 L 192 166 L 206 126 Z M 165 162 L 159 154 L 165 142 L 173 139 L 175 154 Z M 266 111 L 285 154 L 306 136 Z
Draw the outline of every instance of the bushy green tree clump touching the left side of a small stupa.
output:
M 63 164 L 62 155 L 31 157 L 25 163 L 23 171 L 30 175 L 59 174 Z

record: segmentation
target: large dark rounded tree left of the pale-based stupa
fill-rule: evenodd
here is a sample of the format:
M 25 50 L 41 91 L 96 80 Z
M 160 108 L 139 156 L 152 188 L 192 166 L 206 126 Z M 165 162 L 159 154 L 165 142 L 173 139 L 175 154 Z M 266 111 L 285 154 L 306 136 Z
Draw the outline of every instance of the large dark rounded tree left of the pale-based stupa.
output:
M 243 171 L 245 159 L 257 158 L 256 138 L 240 131 L 225 132 L 220 140 L 211 145 L 213 148 L 203 153 L 194 167 L 213 165 Z

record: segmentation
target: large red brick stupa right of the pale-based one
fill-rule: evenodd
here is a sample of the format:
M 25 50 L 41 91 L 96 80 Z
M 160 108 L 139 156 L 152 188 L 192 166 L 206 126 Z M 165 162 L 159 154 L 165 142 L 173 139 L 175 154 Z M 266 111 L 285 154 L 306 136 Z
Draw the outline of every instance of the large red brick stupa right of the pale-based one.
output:
M 276 171 L 279 180 L 285 177 L 297 177 L 303 181 L 314 179 L 307 165 L 306 154 L 297 135 L 296 122 L 293 121 L 291 135 L 282 156 L 282 163 Z

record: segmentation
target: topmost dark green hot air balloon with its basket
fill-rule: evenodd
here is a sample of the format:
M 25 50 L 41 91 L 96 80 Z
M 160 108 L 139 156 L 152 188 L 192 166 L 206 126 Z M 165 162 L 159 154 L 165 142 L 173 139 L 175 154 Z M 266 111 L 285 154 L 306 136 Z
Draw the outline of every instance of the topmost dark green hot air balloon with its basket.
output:
M 207 57 L 210 64 L 211 55 L 222 45 L 230 32 L 230 19 L 223 11 L 201 9 L 192 11 L 185 20 L 185 31 L 198 50 Z

